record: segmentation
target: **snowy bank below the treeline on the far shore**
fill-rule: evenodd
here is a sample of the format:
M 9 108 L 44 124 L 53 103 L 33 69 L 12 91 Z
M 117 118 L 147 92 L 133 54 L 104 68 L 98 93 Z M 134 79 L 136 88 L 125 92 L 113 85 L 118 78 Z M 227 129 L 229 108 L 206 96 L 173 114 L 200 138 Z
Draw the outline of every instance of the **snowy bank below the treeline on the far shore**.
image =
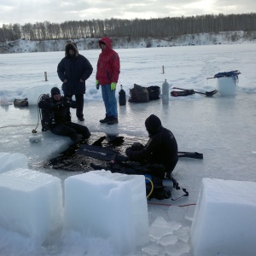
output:
M 62 51 L 70 40 L 30 41 L 19 39 L 0 43 L 0 53 Z M 73 39 L 79 49 L 98 49 L 98 38 Z M 147 47 L 172 47 L 211 44 L 248 44 L 256 43 L 256 32 L 210 32 L 187 34 L 170 38 L 113 38 L 113 48 L 131 49 Z

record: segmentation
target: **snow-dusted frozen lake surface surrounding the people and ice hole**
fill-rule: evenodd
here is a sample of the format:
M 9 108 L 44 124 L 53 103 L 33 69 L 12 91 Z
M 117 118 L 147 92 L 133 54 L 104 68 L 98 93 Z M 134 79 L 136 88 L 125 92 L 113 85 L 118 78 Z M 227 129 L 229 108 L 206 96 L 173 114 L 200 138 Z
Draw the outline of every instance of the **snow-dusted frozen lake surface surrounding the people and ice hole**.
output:
M 99 123 L 99 119 L 105 115 L 101 91 L 95 88 L 96 61 L 100 51 L 80 51 L 94 67 L 93 74 L 86 81 L 87 90 L 84 96 L 84 125 L 87 125 L 91 132 L 147 137 L 144 120 L 149 114 L 154 113 L 160 117 L 162 124 L 174 133 L 179 151 L 197 151 L 204 154 L 204 160 L 183 158 L 178 161 L 173 177 L 181 187 L 188 189 L 189 197 L 183 197 L 178 201 L 150 201 L 164 203 L 166 206 L 148 204 L 149 230 L 153 236 L 149 236 L 147 245 L 137 247 L 136 253 L 133 253 L 136 256 L 189 256 L 190 241 L 186 241 L 195 211 L 192 204 L 197 201 L 202 178 L 256 182 L 256 154 L 253 154 L 256 151 L 256 45 L 117 51 L 121 61 L 119 84 L 123 84 L 126 96 L 129 96 L 129 89 L 135 83 L 143 86 L 161 86 L 165 79 L 172 87 L 197 91 L 215 90 L 217 80 L 207 78 L 219 72 L 241 72 L 236 96 L 170 96 L 168 105 L 162 105 L 161 101 L 142 104 L 127 102 L 126 106 L 118 108 L 119 125 L 109 127 Z M 0 100 L 13 102 L 15 98 L 26 98 L 26 91 L 33 90 L 36 86 L 41 86 L 45 90 L 53 86 L 61 88 L 56 67 L 63 56 L 64 52 L 1 55 Z M 165 74 L 162 74 L 162 66 L 165 67 Z M 44 72 L 48 73 L 48 81 L 44 81 Z M 49 93 L 49 90 L 45 93 Z M 37 96 L 34 98 L 37 102 Z M 77 122 L 75 112 L 72 114 L 73 121 Z M 67 177 L 80 174 L 40 167 L 42 161 L 60 153 L 71 141 L 67 137 L 57 137 L 49 132 L 42 134 L 39 125 L 38 134 L 43 136 L 41 143 L 29 142 L 32 129 L 38 123 L 36 105 L 30 104 L 28 108 L 0 106 L 0 117 L 1 152 L 25 154 L 31 170 L 59 177 L 62 185 Z M 176 190 L 173 190 L 172 194 L 173 198 L 180 195 Z M 174 215 L 169 215 L 169 212 L 172 212 L 169 210 L 170 205 L 187 205 L 183 207 L 183 220 L 171 218 Z M 162 233 L 160 218 L 166 221 Z M 167 232 L 166 227 L 170 227 Z M 173 230 L 175 227 L 179 228 Z M 17 255 L 17 252 L 20 255 L 119 255 L 109 242 L 102 238 L 84 239 L 84 236 L 74 231 L 63 236 L 60 234 L 50 236 L 36 253 L 31 253 L 32 247 L 23 242 L 22 237 L 12 231 L 0 229 L 0 252 L 11 256 Z

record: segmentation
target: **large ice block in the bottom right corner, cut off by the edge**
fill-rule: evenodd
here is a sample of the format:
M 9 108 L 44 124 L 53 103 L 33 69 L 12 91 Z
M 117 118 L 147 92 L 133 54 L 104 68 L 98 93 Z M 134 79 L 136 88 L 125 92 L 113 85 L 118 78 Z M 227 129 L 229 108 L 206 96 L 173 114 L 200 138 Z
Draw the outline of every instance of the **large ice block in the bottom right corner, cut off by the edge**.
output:
M 256 183 L 203 178 L 191 228 L 195 256 L 256 255 Z

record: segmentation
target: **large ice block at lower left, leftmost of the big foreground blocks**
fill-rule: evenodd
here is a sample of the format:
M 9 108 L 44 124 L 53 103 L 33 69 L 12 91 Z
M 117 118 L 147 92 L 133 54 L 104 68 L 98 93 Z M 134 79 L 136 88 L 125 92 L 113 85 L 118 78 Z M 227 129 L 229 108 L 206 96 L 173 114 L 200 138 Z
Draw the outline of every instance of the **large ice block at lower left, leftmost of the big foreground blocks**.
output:
M 42 245 L 62 224 L 61 180 L 42 172 L 15 169 L 0 174 L 0 226 Z

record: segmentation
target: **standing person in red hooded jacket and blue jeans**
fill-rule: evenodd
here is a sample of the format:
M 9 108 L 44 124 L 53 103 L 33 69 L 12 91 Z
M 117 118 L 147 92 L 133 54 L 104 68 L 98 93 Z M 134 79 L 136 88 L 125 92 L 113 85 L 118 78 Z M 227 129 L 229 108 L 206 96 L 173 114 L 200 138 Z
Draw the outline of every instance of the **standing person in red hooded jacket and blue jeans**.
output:
M 120 61 L 119 55 L 111 47 L 110 38 L 99 40 L 102 53 L 99 55 L 96 71 L 96 89 L 102 87 L 102 99 L 106 108 L 106 117 L 101 123 L 114 125 L 119 122 L 117 100 L 115 97 L 116 84 L 119 80 Z

